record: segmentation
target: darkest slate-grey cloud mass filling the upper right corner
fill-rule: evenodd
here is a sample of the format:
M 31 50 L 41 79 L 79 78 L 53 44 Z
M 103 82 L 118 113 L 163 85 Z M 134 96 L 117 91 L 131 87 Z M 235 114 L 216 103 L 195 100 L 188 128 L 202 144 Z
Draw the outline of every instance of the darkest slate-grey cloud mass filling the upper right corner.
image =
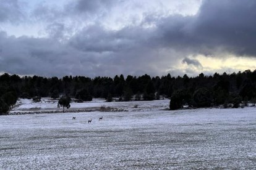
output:
M 255 55 L 256 2 L 204 1 L 192 33 L 209 47 L 223 46 L 238 55 Z

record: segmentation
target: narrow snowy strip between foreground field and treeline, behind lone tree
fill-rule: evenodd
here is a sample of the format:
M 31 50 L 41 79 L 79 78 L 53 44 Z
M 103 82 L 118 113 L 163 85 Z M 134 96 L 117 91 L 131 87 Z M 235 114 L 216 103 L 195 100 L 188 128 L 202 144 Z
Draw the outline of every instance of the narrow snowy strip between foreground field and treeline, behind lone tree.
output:
M 19 99 L 15 107 L 10 111 L 11 115 L 20 113 L 41 113 L 42 111 L 62 111 L 62 108 L 57 108 L 58 100 L 49 98 L 41 99 L 41 102 L 35 103 L 32 99 Z M 133 102 L 106 102 L 105 99 L 93 99 L 91 102 L 70 103 L 71 112 L 85 110 L 95 111 L 98 108 L 110 107 L 116 108 L 116 111 L 156 111 L 169 108 L 169 99 L 154 100 L 154 101 L 133 101 Z M 137 105 L 137 107 L 135 107 Z M 67 111 L 69 111 L 67 110 Z

